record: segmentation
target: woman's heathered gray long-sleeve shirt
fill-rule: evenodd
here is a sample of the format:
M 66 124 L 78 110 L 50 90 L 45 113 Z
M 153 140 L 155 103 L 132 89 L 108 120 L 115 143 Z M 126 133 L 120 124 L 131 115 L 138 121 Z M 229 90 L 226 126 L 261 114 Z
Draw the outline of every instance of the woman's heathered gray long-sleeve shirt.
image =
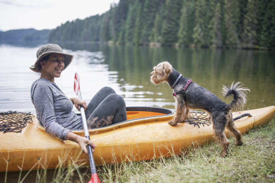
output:
M 37 79 L 31 87 L 31 98 L 37 119 L 47 133 L 65 140 L 70 129 L 82 128 L 81 116 L 72 111 L 72 101 L 55 83 L 45 78 Z

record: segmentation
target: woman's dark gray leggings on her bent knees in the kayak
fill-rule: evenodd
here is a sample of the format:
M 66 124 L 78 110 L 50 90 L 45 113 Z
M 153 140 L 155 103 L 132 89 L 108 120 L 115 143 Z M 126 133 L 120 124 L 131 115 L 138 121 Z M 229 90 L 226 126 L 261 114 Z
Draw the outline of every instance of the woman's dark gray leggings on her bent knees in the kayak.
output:
M 88 128 L 99 128 L 125 121 L 125 101 L 111 87 L 103 87 L 89 102 L 85 115 Z

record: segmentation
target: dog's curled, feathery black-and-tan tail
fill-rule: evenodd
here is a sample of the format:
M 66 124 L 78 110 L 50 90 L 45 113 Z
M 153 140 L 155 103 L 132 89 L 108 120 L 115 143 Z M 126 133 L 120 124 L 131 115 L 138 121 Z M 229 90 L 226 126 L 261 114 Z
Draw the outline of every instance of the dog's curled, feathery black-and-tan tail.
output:
M 235 84 L 233 82 L 230 87 L 229 86 L 226 87 L 223 85 L 223 92 L 222 92 L 223 96 L 225 98 L 233 96 L 233 100 L 230 102 L 230 104 L 227 105 L 227 110 L 232 110 L 232 111 L 243 110 L 243 107 L 246 103 L 246 94 L 247 92 L 250 92 L 250 89 L 242 86 L 243 84 L 241 82 L 237 82 Z

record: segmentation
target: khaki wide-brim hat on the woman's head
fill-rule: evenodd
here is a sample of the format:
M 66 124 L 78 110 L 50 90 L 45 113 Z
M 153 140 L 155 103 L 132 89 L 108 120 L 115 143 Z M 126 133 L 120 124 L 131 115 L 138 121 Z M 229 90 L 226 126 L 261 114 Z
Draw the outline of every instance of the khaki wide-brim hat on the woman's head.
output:
M 62 48 L 57 44 L 46 44 L 43 45 L 41 48 L 39 48 L 36 52 L 36 62 L 34 65 L 30 66 L 30 69 L 34 72 L 39 72 L 39 62 L 43 57 L 46 57 L 47 55 L 50 55 L 52 53 L 61 53 L 64 55 L 64 68 L 63 70 L 68 67 L 68 65 L 72 62 L 72 58 L 74 55 L 64 53 Z

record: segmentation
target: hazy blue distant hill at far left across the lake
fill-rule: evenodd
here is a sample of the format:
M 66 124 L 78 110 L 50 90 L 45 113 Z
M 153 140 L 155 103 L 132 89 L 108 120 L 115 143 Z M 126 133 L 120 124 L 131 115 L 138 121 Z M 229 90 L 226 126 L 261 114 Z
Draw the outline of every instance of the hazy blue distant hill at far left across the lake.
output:
M 36 29 L 17 29 L 0 32 L 0 43 L 45 42 L 48 40 L 50 30 L 38 31 Z

